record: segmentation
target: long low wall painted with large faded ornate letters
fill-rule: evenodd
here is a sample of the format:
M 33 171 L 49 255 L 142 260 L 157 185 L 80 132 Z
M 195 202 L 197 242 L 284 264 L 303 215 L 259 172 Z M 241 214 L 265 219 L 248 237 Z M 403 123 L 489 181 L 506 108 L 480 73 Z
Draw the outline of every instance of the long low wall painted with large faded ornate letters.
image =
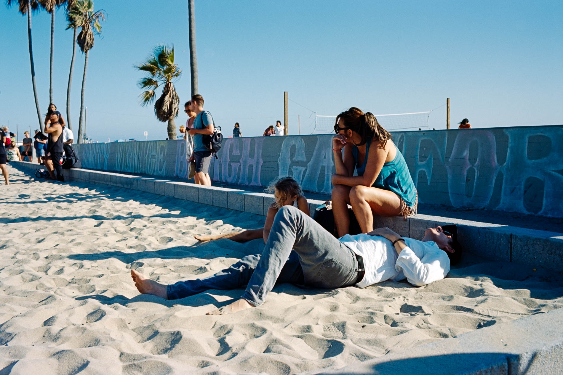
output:
M 419 202 L 563 217 L 563 125 L 395 132 Z M 332 135 L 226 138 L 215 182 L 267 186 L 290 175 L 330 193 Z M 183 141 L 75 146 L 83 168 L 186 178 Z

